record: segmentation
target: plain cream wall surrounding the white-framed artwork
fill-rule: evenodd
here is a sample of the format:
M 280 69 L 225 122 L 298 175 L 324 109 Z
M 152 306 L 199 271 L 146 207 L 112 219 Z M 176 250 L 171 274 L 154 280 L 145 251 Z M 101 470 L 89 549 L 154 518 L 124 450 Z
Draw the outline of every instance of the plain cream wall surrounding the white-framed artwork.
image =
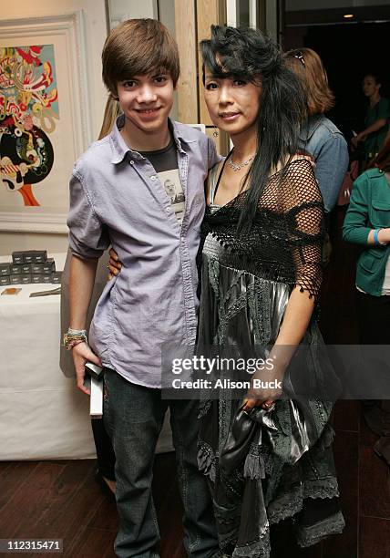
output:
M 104 0 L 18 0 L 2 2 L 1 19 L 17 19 L 73 13 L 84 10 L 86 24 L 87 81 L 91 128 L 94 137 L 100 130 L 106 91 L 101 80 L 100 55 L 107 36 Z M 0 232 L 0 255 L 14 250 L 40 250 L 63 252 L 67 249 L 66 234 L 8 233 Z

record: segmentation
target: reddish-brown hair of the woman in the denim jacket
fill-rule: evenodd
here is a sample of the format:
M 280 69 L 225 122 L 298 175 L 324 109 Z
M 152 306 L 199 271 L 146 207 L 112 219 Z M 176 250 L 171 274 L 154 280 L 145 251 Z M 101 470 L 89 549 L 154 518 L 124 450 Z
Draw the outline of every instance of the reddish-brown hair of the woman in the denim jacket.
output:
M 323 114 L 334 107 L 334 94 L 321 58 L 311 48 L 296 48 L 285 55 L 285 62 L 303 81 L 309 114 Z

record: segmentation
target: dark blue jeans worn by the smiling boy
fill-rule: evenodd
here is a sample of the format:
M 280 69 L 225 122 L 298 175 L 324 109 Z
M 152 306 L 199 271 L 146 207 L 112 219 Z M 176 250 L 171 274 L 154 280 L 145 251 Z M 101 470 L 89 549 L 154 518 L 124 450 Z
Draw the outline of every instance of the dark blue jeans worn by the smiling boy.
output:
M 161 399 L 159 389 L 138 386 L 105 370 L 104 419 L 115 455 L 120 558 L 159 556 L 159 525 L 151 494 L 156 444 L 167 408 L 184 505 L 184 546 L 190 558 L 218 551 L 210 491 L 197 465 L 197 401 Z

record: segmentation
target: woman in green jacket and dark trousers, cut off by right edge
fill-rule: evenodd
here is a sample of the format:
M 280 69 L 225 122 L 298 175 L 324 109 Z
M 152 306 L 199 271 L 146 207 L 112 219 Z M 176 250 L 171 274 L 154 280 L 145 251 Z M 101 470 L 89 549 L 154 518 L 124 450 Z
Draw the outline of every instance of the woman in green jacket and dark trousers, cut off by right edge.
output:
M 364 247 L 356 269 L 357 315 L 362 345 L 390 341 L 390 138 L 354 181 L 343 236 Z M 381 435 L 375 452 L 390 465 L 390 402 L 364 406 L 370 426 Z

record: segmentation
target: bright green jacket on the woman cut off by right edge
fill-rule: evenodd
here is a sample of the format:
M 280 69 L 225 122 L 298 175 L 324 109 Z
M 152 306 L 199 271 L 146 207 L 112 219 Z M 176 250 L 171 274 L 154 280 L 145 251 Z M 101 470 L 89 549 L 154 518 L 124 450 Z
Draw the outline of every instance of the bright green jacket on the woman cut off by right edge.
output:
M 390 227 L 390 185 L 385 173 L 369 169 L 354 181 L 351 201 L 346 212 L 343 238 L 347 243 L 365 247 L 357 261 L 356 285 L 364 293 L 380 296 L 385 278 L 385 266 L 390 244 L 367 244 L 372 229 Z

